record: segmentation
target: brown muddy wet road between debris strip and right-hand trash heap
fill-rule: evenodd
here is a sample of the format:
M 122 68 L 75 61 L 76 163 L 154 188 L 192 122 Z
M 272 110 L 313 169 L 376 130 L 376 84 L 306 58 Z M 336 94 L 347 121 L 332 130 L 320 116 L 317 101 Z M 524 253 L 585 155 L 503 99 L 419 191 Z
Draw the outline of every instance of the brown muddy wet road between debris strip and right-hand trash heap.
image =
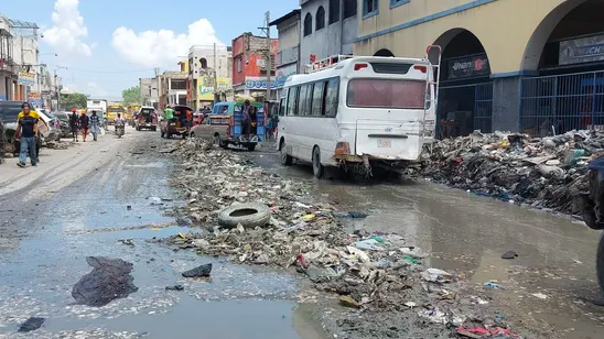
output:
M 342 210 L 369 211 L 352 227 L 405 237 L 431 253 L 427 265 L 490 289 L 490 304 L 516 327 L 540 329 L 547 338 L 602 338 L 604 308 L 585 300 L 600 297 L 600 232 L 582 222 L 422 181 L 316 181 L 310 166 L 283 167 L 268 147 L 248 156 L 283 176 L 308 181 Z M 507 251 L 519 256 L 503 260 Z M 489 281 L 505 289 L 484 287 Z

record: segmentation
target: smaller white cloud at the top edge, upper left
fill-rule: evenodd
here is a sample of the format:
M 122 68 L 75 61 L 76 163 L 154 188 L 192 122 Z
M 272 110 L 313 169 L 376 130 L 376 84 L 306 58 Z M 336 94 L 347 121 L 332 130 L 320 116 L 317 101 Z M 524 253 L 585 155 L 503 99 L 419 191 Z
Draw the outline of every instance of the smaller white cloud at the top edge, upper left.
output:
M 79 0 L 56 0 L 52 15 L 53 26 L 43 30 L 44 41 L 57 52 L 89 56 L 93 51 L 82 39 L 88 36 L 88 29 L 78 10 Z

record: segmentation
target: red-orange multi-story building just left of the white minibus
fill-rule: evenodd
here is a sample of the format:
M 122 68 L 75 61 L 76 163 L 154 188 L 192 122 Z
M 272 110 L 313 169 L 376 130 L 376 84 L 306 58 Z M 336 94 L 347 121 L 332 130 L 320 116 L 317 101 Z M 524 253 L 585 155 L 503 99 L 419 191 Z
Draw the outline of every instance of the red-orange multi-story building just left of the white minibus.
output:
M 273 90 L 270 98 L 266 98 L 266 94 L 268 55 L 271 57 L 270 74 L 274 77 L 278 50 L 277 39 L 271 39 L 269 44 L 268 37 L 244 33 L 233 40 L 233 89 L 236 95 L 248 95 L 259 101 L 277 98 Z M 271 89 L 274 89 L 277 84 L 274 81 L 270 84 Z

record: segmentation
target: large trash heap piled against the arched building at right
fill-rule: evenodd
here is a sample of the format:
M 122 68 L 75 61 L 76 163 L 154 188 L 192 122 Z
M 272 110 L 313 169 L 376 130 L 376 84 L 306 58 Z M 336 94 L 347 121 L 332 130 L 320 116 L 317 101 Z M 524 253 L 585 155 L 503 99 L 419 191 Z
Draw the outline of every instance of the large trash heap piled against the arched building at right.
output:
M 572 214 L 572 197 L 589 190 L 589 162 L 603 154 L 600 131 L 542 139 L 474 132 L 438 141 L 422 174 L 481 196 Z

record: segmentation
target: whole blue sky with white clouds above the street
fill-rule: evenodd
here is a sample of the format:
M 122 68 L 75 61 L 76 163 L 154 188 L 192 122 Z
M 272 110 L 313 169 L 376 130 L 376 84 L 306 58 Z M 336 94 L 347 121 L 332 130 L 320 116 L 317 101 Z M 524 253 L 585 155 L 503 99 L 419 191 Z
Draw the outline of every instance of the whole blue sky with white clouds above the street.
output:
M 230 45 L 244 32 L 260 34 L 299 0 L 20 0 L 0 12 L 41 26 L 40 62 L 56 69 L 69 90 L 116 99 L 121 90 L 175 70 L 193 44 Z M 277 37 L 276 28 L 271 36 Z M 55 56 L 56 54 L 56 56 Z M 65 69 L 64 67 L 67 67 Z

